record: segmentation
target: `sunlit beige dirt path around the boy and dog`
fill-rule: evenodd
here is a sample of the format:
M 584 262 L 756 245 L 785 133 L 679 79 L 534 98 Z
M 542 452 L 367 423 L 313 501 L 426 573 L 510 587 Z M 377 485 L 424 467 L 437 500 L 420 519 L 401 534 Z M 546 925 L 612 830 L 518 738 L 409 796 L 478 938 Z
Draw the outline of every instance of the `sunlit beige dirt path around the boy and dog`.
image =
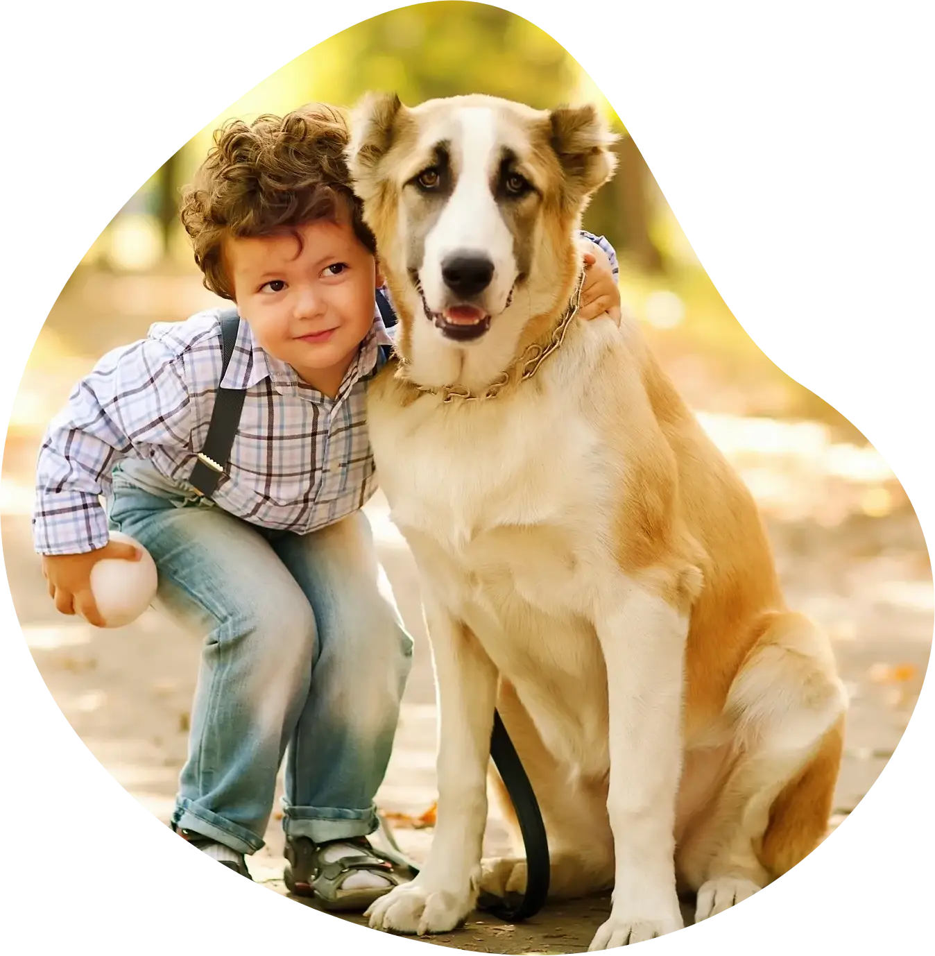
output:
M 133 337 L 150 320 L 138 316 L 134 329 L 122 333 L 116 323 L 102 321 L 98 345 L 109 348 Z M 185 757 L 198 647 L 152 612 L 114 632 L 56 614 L 30 538 L 33 462 L 42 425 L 90 359 L 55 354 L 53 334 L 42 349 L 37 345 L 36 355 L 41 362 L 28 365 L 14 395 L 3 448 L 0 535 L 8 594 L 24 647 L 62 719 L 117 786 L 165 825 Z M 706 423 L 763 505 L 789 599 L 829 629 L 852 694 L 834 829 L 898 750 L 930 668 L 935 585 L 923 528 L 879 452 L 834 445 L 812 426 L 796 430 L 728 416 L 707 417 Z M 436 783 L 434 691 L 418 586 L 412 557 L 389 524 L 382 499 L 367 511 L 417 641 L 398 744 L 379 802 L 385 811 L 419 816 L 435 800 Z M 285 893 L 278 819 L 267 836 L 250 869 L 262 887 Z M 431 830 L 397 829 L 396 836 L 406 853 L 424 859 Z M 500 821 L 491 817 L 485 852 L 503 849 Z M 515 927 L 479 915 L 462 930 L 425 942 L 506 956 L 583 953 L 608 911 L 609 900 L 577 902 L 549 907 Z

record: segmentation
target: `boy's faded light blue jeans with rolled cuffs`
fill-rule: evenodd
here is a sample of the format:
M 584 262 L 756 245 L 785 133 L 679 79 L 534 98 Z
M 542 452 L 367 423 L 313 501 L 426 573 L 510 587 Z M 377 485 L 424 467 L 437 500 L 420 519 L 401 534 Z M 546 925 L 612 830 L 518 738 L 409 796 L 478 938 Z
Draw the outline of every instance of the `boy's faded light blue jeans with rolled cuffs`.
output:
M 256 852 L 288 750 L 287 837 L 373 833 L 413 642 L 366 516 L 268 532 L 120 466 L 108 504 L 156 562 L 154 607 L 204 640 L 174 826 Z

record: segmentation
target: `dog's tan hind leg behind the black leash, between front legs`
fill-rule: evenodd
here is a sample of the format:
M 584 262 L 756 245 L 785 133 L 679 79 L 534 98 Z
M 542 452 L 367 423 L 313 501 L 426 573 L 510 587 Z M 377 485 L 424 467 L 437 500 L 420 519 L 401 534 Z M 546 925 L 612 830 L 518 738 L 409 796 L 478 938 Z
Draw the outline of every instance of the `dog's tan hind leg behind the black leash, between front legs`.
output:
M 545 748 L 526 708 L 511 684 L 501 680 L 497 708 L 523 770 L 533 785 L 549 840 L 549 898 L 574 899 L 614 884 L 614 843 L 607 818 L 607 787 L 572 783 L 567 771 Z M 510 794 L 490 766 L 489 782 L 507 822 L 516 856 L 484 859 L 481 888 L 497 897 L 526 891 L 526 858 Z

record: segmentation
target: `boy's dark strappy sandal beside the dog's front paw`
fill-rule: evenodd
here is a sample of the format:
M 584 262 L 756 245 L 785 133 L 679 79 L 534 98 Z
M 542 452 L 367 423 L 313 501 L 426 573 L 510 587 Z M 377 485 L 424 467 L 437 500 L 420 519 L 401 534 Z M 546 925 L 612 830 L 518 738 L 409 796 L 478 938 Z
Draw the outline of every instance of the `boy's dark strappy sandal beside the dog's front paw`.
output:
M 359 846 L 360 853 L 325 862 L 322 851 L 335 843 Z M 411 879 L 411 876 L 401 872 L 410 867 L 405 864 L 401 866 L 400 861 L 375 850 L 365 836 L 321 844 L 313 843 L 307 836 L 297 836 L 286 842 L 286 860 L 284 879 L 289 892 L 294 896 L 315 897 L 327 910 L 363 912 L 372 902 Z M 342 889 L 344 881 L 351 874 L 361 871 L 381 876 L 389 882 L 383 886 Z

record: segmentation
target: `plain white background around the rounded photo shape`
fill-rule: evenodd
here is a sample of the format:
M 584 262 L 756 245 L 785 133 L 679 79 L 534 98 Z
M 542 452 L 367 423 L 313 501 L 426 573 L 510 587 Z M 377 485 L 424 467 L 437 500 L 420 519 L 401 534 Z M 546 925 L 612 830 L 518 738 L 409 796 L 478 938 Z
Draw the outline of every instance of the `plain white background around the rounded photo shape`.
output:
M 313 22 L 308 9 L 141 9 L 130 27 L 86 8 L 74 23 L 55 13 L 10 34 L 26 78 L 21 90 L 8 86 L 4 122 L 8 306 L 17 287 L 30 292 L 4 323 L 20 338 L 14 357 L 88 240 L 180 142 L 278 62 L 371 12 L 345 4 Z M 750 332 L 881 444 L 924 514 L 931 310 L 910 287 L 927 264 L 910 261 L 895 211 L 917 195 L 901 173 L 911 91 L 814 20 L 807 35 L 775 23 L 689 31 L 696 53 L 687 54 L 672 45 L 673 16 L 627 28 L 621 52 L 604 46 L 618 35 L 601 29 L 604 14 L 570 9 L 523 12 L 599 77 Z M 225 11 L 230 27 L 217 22 Z M 37 281 L 20 281 L 33 272 Z M 37 939 L 103 951 L 424 949 L 338 928 L 192 858 L 88 760 L 25 653 L 19 661 L 27 690 L 5 722 L 16 758 L 5 774 L 5 858 L 19 901 L 8 913 Z M 8 684 L 9 701 L 19 693 Z M 663 947 L 898 945 L 923 935 L 922 723 L 920 714 L 869 804 L 801 873 Z

